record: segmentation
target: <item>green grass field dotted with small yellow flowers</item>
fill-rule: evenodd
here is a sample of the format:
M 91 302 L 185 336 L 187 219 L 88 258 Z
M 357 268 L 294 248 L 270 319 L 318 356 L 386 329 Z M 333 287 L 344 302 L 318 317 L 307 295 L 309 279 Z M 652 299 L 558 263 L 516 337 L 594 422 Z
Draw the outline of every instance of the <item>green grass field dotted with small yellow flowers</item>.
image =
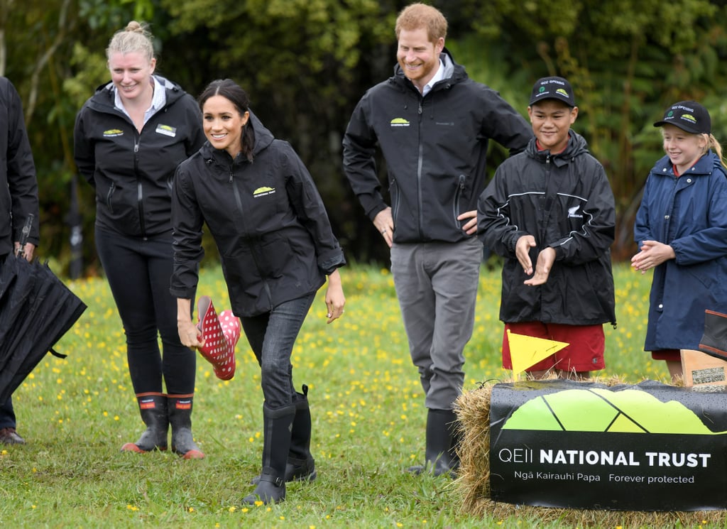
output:
M 642 350 L 650 275 L 615 267 L 615 330 L 606 327 L 603 376 L 667 378 Z M 456 483 L 403 469 L 424 458 L 425 408 L 386 270 L 342 271 L 344 318 L 326 325 L 314 304 L 294 350 L 294 379 L 310 387 L 318 480 L 288 487 L 283 504 L 243 508 L 260 470 L 260 370 L 243 339 L 231 381 L 198 359 L 193 432 L 206 459 L 119 453 L 143 429 L 126 367 L 124 334 L 103 279 L 69 283 L 87 312 L 14 397 L 24 446 L 0 452 L 0 525 L 33 528 L 536 528 L 461 512 Z M 219 269 L 199 294 L 228 306 Z M 319 296 L 320 297 L 320 296 Z M 508 379 L 499 367 L 499 272 L 483 269 L 465 391 Z M 545 525 L 559 527 L 558 524 Z

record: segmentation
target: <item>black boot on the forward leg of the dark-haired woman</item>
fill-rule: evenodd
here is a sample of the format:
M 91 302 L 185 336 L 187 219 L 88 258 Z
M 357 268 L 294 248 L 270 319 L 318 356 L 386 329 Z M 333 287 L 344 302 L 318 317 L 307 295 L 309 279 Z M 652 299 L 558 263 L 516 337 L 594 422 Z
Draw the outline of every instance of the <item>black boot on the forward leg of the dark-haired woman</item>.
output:
M 285 468 L 290 450 L 290 436 L 295 417 L 295 404 L 277 408 L 262 405 L 262 473 L 252 494 L 243 504 L 280 503 L 285 500 Z

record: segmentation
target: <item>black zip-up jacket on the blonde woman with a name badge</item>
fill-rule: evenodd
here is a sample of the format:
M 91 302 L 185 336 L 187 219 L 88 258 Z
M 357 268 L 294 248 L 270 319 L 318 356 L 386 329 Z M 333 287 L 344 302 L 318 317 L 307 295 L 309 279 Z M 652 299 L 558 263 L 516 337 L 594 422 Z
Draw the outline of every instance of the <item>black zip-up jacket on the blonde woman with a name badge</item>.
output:
M 76 166 L 96 188 L 96 226 L 132 237 L 171 232 L 174 170 L 205 141 L 197 102 L 155 76 L 166 105 L 138 132 L 114 107 L 113 84 L 100 86 L 76 116 Z

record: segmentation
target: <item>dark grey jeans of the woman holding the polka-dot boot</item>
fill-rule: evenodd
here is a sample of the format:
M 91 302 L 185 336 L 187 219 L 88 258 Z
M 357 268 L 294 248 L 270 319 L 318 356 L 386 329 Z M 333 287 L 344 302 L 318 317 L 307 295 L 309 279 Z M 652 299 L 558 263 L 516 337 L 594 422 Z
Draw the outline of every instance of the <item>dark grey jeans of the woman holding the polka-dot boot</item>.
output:
M 247 341 L 260 364 L 260 385 L 268 408 L 277 409 L 293 403 L 295 389 L 290 356 L 315 298 L 314 292 L 281 303 L 265 314 L 240 318 Z

